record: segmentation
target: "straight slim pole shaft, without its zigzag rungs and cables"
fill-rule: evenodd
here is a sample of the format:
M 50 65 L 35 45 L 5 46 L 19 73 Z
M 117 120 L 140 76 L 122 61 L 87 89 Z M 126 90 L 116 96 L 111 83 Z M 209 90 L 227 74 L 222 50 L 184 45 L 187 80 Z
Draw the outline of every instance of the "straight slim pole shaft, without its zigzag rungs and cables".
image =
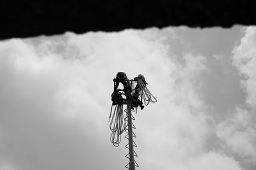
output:
M 131 94 L 131 92 L 129 93 Z M 127 117 L 128 117 L 128 138 L 129 138 L 129 170 L 135 170 L 133 139 L 132 139 L 132 113 L 131 113 L 131 96 L 127 96 Z

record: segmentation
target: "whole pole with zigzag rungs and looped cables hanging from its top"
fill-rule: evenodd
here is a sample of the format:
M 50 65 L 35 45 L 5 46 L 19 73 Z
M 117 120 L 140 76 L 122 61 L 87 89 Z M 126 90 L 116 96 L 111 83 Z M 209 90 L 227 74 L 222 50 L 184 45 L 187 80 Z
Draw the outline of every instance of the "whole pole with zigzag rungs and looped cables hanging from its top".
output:
M 114 92 L 111 95 L 113 103 L 109 115 L 109 120 L 111 120 L 109 128 L 112 131 L 110 141 L 114 146 L 118 146 L 121 141 L 121 134 L 124 131 L 127 132 L 125 138 L 129 140 L 129 143 L 125 145 L 125 148 L 129 149 L 129 153 L 125 157 L 129 159 L 129 163 L 125 167 L 129 170 L 135 170 L 135 167 L 139 166 L 134 160 L 134 156 L 138 157 L 138 155 L 134 152 L 134 146 L 137 147 L 137 145 L 133 141 L 133 138 L 136 138 L 136 135 L 132 132 L 132 129 L 135 129 L 134 124 L 132 124 L 132 120 L 135 120 L 132 116 L 132 111 L 136 108 L 137 113 L 138 106 L 143 110 L 144 106 L 142 100 L 147 106 L 150 102 L 156 103 L 157 99 L 152 96 L 147 89 L 148 83 L 142 74 L 139 74 L 138 77 L 134 78 L 134 80 L 128 80 L 124 72 L 118 72 L 113 81 Z M 117 89 L 119 83 L 124 85 L 123 90 Z M 135 88 L 133 88 L 134 83 L 137 83 Z M 126 99 L 123 99 L 122 95 L 124 95 Z M 124 110 L 126 113 L 125 116 L 123 112 L 123 104 L 127 104 L 127 109 Z M 113 106 L 115 106 L 114 111 Z

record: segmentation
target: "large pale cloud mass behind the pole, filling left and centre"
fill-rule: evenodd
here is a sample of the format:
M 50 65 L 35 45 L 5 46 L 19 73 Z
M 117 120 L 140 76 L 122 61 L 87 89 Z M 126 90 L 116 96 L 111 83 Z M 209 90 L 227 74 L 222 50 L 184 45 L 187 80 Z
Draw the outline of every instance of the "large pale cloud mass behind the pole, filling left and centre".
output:
M 214 131 L 200 97 L 205 57 L 186 53 L 181 64 L 155 29 L 63 39 L 0 43 L 0 158 L 28 170 L 124 167 L 127 150 L 108 129 L 112 80 L 124 71 L 144 74 L 158 99 L 135 116 L 141 169 L 240 169 L 205 148 Z

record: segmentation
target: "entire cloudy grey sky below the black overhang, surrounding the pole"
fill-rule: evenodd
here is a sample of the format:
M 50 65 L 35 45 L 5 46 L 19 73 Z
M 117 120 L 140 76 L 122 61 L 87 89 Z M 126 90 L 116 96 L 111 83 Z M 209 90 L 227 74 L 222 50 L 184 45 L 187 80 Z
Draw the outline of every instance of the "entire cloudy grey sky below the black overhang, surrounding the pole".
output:
M 0 42 L 0 170 L 125 169 L 113 78 L 144 74 L 138 169 L 256 167 L 256 27 L 66 32 Z

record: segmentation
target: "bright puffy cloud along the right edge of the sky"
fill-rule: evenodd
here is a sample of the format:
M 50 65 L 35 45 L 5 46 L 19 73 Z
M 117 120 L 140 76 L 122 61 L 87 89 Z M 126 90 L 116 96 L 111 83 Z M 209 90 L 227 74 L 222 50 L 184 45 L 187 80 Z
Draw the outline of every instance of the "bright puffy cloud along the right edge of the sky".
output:
M 233 50 L 233 64 L 242 75 L 241 85 L 246 92 L 246 106 L 237 106 L 217 127 L 217 136 L 242 162 L 255 165 L 256 158 L 256 29 L 247 27 L 241 42 Z

